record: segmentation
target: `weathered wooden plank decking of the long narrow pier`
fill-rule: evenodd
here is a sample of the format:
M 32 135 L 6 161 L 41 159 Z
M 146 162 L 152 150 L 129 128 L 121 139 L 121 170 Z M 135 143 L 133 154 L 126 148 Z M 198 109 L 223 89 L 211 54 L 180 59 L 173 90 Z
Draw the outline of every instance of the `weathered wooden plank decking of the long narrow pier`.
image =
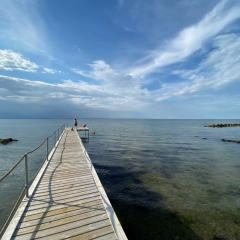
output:
M 127 239 L 76 131 L 65 129 L 43 168 L 4 240 Z

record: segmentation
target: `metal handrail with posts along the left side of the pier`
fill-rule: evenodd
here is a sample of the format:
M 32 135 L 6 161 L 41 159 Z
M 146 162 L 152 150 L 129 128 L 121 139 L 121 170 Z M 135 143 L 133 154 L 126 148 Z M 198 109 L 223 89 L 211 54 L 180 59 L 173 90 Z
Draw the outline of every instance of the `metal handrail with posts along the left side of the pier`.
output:
M 4 233 L 5 229 L 7 228 L 11 218 L 13 217 L 14 213 L 16 212 L 16 209 L 18 207 L 18 205 L 20 204 L 20 201 L 23 199 L 24 195 L 29 198 L 29 178 L 28 178 L 28 155 L 37 151 L 40 147 L 42 147 L 46 142 L 47 142 L 47 146 L 46 146 L 46 154 L 47 154 L 47 158 L 46 160 L 49 161 L 50 159 L 48 158 L 48 155 L 49 155 L 49 139 L 52 137 L 52 136 L 55 136 L 54 138 L 54 144 L 53 144 L 53 147 L 52 149 L 54 148 L 54 145 L 56 145 L 57 141 L 59 140 L 60 138 L 60 135 L 63 133 L 64 129 L 65 129 L 66 125 L 63 124 L 62 126 L 60 126 L 56 131 L 53 132 L 53 134 L 51 134 L 50 136 L 48 136 L 47 138 L 45 138 L 40 145 L 38 145 L 35 149 L 25 153 L 13 166 L 12 168 L 7 172 L 5 173 L 1 178 L 0 178 L 0 184 L 1 182 L 7 177 L 10 175 L 10 173 L 23 161 L 25 161 L 25 187 L 23 188 L 23 190 L 21 191 L 17 201 L 15 202 L 14 204 L 14 207 L 12 208 L 5 224 L 3 225 L 2 229 L 0 229 L 0 238 L 2 236 L 2 234 Z M 57 136 L 57 133 L 58 133 L 58 136 Z M 44 160 L 44 159 L 43 159 Z

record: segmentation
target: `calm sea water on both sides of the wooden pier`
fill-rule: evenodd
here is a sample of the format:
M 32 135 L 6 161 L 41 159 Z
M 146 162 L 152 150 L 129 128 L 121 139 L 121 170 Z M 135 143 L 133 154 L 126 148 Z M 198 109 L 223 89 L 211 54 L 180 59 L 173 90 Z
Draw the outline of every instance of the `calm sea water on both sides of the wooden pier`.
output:
M 0 175 L 68 120 L 0 120 Z M 129 239 L 240 239 L 240 128 L 237 120 L 84 119 L 85 146 Z M 37 170 L 44 150 L 31 157 Z M 23 166 L 0 184 L 0 224 L 24 184 Z M 16 181 L 17 179 L 17 181 Z

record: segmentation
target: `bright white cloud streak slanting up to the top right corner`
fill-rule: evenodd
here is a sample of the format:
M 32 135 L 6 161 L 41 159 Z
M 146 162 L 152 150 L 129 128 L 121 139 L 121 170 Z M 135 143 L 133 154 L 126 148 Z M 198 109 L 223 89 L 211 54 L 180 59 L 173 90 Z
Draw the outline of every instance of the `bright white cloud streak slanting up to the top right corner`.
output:
M 209 39 L 240 18 L 240 6 L 229 7 L 228 3 L 227 0 L 220 1 L 200 22 L 183 29 L 161 49 L 146 56 L 146 63 L 130 69 L 130 75 L 144 77 L 164 66 L 183 61 L 201 49 Z

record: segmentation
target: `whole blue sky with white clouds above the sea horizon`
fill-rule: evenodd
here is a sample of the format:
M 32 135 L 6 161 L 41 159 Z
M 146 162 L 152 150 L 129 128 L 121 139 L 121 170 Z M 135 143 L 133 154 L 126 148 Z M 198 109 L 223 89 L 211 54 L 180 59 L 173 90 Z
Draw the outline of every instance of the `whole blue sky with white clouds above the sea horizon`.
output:
M 239 0 L 0 0 L 0 118 L 238 118 Z

